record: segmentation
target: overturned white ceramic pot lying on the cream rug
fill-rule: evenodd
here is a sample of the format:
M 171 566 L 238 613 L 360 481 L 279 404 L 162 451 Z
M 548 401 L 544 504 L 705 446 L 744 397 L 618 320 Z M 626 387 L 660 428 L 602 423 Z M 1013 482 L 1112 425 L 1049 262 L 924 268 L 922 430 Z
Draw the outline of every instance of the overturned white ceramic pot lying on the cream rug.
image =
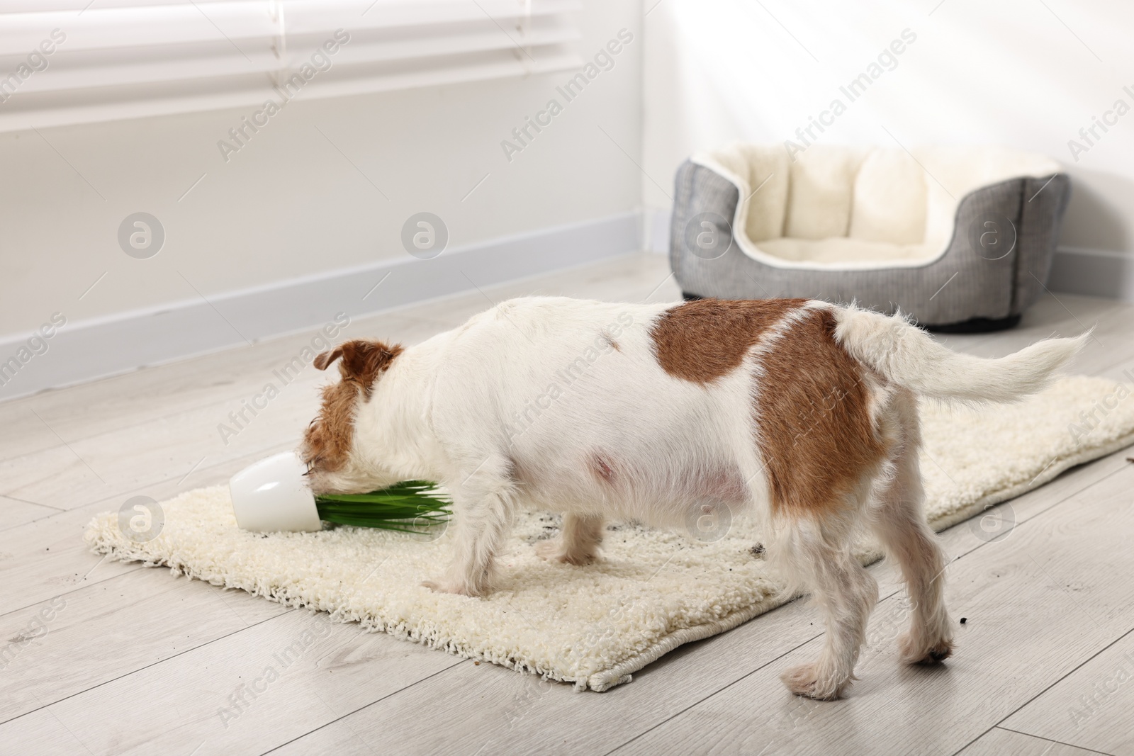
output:
M 290 451 L 261 459 L 232 476 L 236 524 L 257 533 L 313 533 L 323 524 L 307 487 L 304 464 Z

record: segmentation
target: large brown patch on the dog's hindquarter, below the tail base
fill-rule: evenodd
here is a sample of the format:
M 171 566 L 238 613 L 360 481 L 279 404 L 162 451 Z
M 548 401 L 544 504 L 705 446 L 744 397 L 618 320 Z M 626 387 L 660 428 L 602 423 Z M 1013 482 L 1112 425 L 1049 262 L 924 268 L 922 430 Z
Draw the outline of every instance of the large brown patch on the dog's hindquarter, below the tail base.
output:
M 756 434 L 772 511 L 822 515 L 882 461 L 865 368 L 835 339 L 835 315 L 803 315 L 761 355 Z

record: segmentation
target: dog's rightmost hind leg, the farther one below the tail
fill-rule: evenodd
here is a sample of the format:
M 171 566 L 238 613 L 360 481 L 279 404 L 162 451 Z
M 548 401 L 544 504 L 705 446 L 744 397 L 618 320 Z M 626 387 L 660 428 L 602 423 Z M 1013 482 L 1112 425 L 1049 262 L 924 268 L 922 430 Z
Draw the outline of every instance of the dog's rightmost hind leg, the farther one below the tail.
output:
M 922 511 L 924 491 L 917 465 L 921 445 L 916 399 L 908 391 L 892 400 L 902 442 L 894 476 L 874 502 L 871 529 L 898 562 L 912 603 L 909 631 L 898 638 L 902 661 L 933 663 L 953 653 L 953 626 L 945 606 L 945 552 Z

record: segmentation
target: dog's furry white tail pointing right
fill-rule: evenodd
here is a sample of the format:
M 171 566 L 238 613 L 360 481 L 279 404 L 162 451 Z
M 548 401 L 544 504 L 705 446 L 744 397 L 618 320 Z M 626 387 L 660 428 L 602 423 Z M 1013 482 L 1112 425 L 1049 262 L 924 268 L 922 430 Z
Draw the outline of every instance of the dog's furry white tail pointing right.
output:
M 1047 339 L 999 359 L 942 347 L 899 315 L 836 307 L 835 338 L 850 355 L 916 394 L 957 401 L 1014 401 L 1043 390 L 1075 356 L 1088 331 L 1074 339 Z

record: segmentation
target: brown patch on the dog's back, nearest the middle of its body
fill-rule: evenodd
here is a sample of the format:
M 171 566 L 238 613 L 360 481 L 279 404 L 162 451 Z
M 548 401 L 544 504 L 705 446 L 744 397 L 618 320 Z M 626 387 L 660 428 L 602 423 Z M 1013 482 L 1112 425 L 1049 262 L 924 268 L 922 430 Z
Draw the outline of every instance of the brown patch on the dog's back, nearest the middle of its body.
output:
M 760 337 L 804 303 L 695 299 L 662 313 L 650 338 L 662 369 L 686 381 L 709 383 L 739 367 Z

